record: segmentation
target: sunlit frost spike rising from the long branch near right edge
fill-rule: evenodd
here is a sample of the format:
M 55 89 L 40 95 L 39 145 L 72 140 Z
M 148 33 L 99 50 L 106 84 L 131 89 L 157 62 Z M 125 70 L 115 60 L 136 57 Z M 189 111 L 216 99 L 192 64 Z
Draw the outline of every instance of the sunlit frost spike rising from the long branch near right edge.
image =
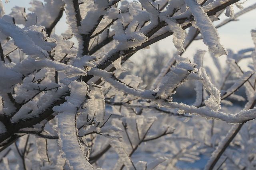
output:
M 208 100 L 204 101 L 206 106 L 212 108 L 213 110 L 219 110 L 220 109 L 220 90 L 218 90 L 214 84 L 210 81 L 209 77 L 206 74 L 206 71 L 204 68 L 199 69 L 200 76 L 202 76 L 204 79 L 201 80 L 204 84 L 204 87 L 210 92 L 211 96 L 208 98 Z

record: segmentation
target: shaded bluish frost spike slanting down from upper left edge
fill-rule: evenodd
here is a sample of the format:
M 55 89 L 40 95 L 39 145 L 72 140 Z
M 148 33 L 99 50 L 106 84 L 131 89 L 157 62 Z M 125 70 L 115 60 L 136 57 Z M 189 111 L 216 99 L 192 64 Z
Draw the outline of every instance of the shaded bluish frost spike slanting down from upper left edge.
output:
M 42 50 L 34 41 L 18 26 L 10 24 L 0 19 L 0 30 L 6 36 L 14 39 L 14 44 L 18 46 L 26 55 L 38 56 L 45 58 L 49 56 L 46 50 Z

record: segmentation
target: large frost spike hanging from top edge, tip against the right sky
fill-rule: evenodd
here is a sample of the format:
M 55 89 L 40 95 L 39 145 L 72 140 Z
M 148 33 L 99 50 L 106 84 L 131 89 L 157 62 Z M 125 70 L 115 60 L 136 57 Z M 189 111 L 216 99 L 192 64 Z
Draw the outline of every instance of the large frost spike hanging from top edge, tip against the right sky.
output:
M 196 0 L 185 0 L 185 2 L 196 20 L 196 26 L 202 34 L 204 44 L 208 46 L 210 52 L 215 57 L 226 55 L 226 50 L 220 44 L 218 32 L 206 12 L 204 12 Z

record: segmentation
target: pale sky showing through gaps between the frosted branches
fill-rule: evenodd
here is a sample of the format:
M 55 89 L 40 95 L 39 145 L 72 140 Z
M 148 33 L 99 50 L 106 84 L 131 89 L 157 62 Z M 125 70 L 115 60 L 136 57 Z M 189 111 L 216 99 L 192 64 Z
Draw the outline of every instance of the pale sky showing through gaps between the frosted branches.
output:
M 3 0 L 4 1 L 4 0 Z M 30 0 L 10 0 L 7 4 L 4 4 L 6 14 L 9 14 L 11 11 L 11 8 L 14 6 L 22 6 L 26 9 L 30 7 L 29 4 Z M 247 0 L 244 4 L 244 7 L 250 6 L 251 4 L 256 3 L 255 0 Z M 239 9 L 234 6 L 235 12 L 238 12 Z M 28 10 L 27 10 L 28 12 Z M 64 32 L 67 29 L 67 24 L 65 23 L 65 14 L 60 20 L 60 22 L 56 26 L 56 33 L 60 34 Z M 222 14 L 220 17 L 220 21 L 227 18 L 224 14 Z M 218 28 L 218 33 L 220 36 L 220 42 L 223 44 L 224 48 L 226 49 L 232 49 L 235 52 L 238 50 L 241 50 L 243 48 L 249 48 L 253 47 L 254 44 L 252 42 L 252 38 L 250 36 L 250 30 L 256 29 L 256 10 L 252 10 L 242 16 L 240 16 L 239 21 L 234 21 L 226 24 L 225 26 L 222 26 L 221 28 Z M 218 24 L 218 22 L 214 22 L 214 24 Z M 165 38 L 164 40 L 161 40 L 160 42 L 156 43 L 154 46 L 159 46 L 162 48 L 162 50 L 169 52 L 170 54 L 173 53 L 175 50 L 174 45 L 172 43 L 172 37 Z M 151 46 L 152 49 L 152 46 Z M 194 53 L 197 49 L 204 49 L 207 50 L 207 46 L 205 46 L 202 43 L 202 40 L 198 40 L 196 42 L 193 42 L 190 47 L 186 50 L 183 56 L 192 58 Z M 136 60 L 136 58 L 140 58 L 141 55 L 143 55 L 145 52 L 150 52 L 149 50 L 141 50 L 137 52 L 132 58 L 133 60 Z M 225 56 L 221 56 L 219 58 L 221 61 L 225 61 Z M 206 59 L 209 65 L 212 63 L 210 58 Z

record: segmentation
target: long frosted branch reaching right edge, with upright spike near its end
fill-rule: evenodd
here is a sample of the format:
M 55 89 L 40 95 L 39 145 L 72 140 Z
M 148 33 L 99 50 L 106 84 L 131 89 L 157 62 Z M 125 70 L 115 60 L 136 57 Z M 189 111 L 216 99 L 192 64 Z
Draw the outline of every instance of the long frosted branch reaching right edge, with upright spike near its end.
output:
M 127 84 L 124 84 L 123 82 L 120 82 L 113 73 L 106 72 L 104 70 L 99 70 L 99 69 L 92 69 L 88 72 L 88 74 L 95 75 L 95 76 L 100 76 L 105 80 L 106 82 L 110 83 L 114 88 L 128 93 L 133 96 L 137 96 L 139 98 L 144 98 L 147 100 L 152 100 L 158 104 L 160 107 L 167 107 L 167 108 L 179 108 L 180 110 L 183 110 L 183 113 L 191 113 L 191 114 L 198 114 L 200 116 L 206 117 L 206 118 L 215 118 L 215 119 L 220 119 L 224 120 L 228 123 L 241 123 L 244 121 L 248 121 L 251 119 L 256 118 L 256 114 L 254 112 L 256 111 L 256 108 L 250 109 L 250 110 L 242 110 L 241 112 L 238 112 L 236 114 L 227 114 L 224 112 L 219 112 L 215 110 L 210 110 L 209 108 L 197 108 L 195 106 L 189 106 L 183 103 L 176 103 L 176 102 L 168 102 L 166 99 L 161 99 L 156 95 L 156 93 L 152 90 L 137 90 L 134 89 Z M 204 73 L 202 73 L 204 74 Z M 205 79 L 203 82 L 206 84 L 206 88 L 209 90 L 210 93 L 212 93 L 212 99 L 209 102 L 216 102 L 216 107 L 214 109 L 219 108 L 220 104 L 220 92 L 218 89 L 213 86 L 212 83 L 208 81 L 208 78 L 204 74 Z M 213 88 L 213 89 L 210 89 Z M 215 94 L 216 92 L 216 94 Z M 209 107 L 211 107 L 211 103 L 209 103 Z M 215 104 L 214 104 L 215 106 Z

